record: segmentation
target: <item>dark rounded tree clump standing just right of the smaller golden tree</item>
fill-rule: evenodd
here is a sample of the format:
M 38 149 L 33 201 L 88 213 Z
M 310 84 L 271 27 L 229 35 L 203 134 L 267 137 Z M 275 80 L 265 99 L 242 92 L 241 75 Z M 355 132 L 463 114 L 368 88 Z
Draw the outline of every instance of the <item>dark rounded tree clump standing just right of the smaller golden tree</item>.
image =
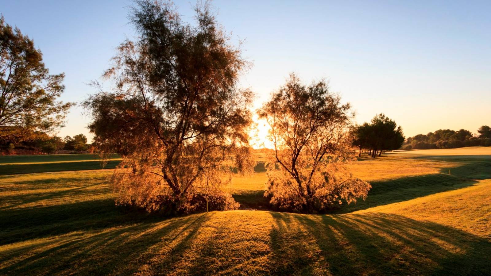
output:
M 356 125 L 352 129 L 353 146 L 359 148 L 358 156 L 366 151 L 376 158 L 383 151 L 399 149 L 404 143 L 402 128 L 384 114 L 377 114 L 370 123 Z

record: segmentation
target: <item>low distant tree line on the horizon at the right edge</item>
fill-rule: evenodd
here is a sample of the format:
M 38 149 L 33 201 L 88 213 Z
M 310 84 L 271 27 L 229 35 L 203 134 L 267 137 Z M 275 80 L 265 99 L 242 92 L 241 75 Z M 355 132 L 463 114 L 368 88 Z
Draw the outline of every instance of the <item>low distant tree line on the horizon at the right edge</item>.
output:
M 491 146 L 491 129 L 482 126 L 473 135 L 470 131 L 461 129 L 458 131 L 440 129 L 428 134 L 418 134 L 406 139 L 402 149 L 437 149 L 460 148 L 472 146 Z

